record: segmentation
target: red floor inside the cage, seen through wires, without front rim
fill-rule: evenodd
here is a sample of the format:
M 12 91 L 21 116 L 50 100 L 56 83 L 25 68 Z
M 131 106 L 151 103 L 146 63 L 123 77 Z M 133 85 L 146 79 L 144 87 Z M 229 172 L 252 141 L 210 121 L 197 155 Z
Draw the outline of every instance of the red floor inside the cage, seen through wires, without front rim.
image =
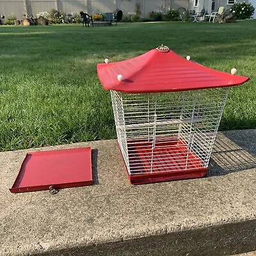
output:
M 181 138 L 156 142 L 155 148 L 146 140 L 129 141 L 128 154 L 132 174 L 204 168 L 204 162 Z

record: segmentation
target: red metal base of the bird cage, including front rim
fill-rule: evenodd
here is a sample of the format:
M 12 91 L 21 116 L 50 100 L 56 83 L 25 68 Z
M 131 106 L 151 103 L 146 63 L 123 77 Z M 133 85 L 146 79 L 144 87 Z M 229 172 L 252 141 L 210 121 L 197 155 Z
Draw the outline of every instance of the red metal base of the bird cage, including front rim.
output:
M 131 144 L 129 143 L 128 145 Z M 127 172 L 129 181 L 131 184 L 139 185 L 204 177 L 208 168 L 204 167 L 204 163 L 193 151 L 189 152 L 187 161 L 188 151 L 185 146 L 184 141 L 177 141 L 177 138 L 175 138 L 175 140 L 172 138 L 164 143 L 156 143 L 156 154 L 154 154 L 154 163 L 151 171 L 150 168 L 148 168 L 151 158 L 148 156 L 149 152 L 152 150 L 152 143 L 148 143 L 147 141 L 143 140 L 138 141 L 138 143 L 132 143 L 132 146 L 128 146 L 129 160 L 136 159 L 136 161 L 132 161 L 132 166 L 130 164 L 130 170 L 133 172 L 131 175 L 129 174 L 125 165 L 125 170 Z M 179 154 L 179 160 L 177 160 L 177 153 Z M 157 169 L 156 165 L 159 162 L 163 163 L 163 158 L 161 158 L 163 155 L 165 159 L 164 168 L 161 167 L 161 170 L 159 170 Z M 189 167 L 184 170 L 184 163 L 186 162 Z

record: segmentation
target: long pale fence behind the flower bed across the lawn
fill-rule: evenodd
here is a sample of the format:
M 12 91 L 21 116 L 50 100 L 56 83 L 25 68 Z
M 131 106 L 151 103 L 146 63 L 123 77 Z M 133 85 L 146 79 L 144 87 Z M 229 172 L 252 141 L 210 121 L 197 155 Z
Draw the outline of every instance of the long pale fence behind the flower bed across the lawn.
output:
M 113 12 L 122 10 L 124 15 L 135 12 L 135 4 L 140 4 L 141 17 L 148 17 L 148 13 L 156 10 L 163 12 L 180 7 L 189 8 L 189 0 L 0 0 L 0 15 L 6 18 L 14 14 L 17 19 L 23 19 L 23 15 L 57 9 L 65 13 L 84 12 Z

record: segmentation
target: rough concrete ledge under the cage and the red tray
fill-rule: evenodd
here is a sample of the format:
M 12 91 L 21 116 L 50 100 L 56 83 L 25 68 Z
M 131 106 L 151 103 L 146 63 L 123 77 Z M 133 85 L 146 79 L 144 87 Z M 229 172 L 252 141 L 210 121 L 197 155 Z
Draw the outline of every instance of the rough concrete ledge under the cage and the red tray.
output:
M 0 255 L 234 255 L 256 250 L 256 131 L 221 133 L 204 179 L 129 184 L 115 141 L 94 185 L 11 194 L 26 152 L 0 153 Z M 38 149 L 33 149 L 38 150 Z

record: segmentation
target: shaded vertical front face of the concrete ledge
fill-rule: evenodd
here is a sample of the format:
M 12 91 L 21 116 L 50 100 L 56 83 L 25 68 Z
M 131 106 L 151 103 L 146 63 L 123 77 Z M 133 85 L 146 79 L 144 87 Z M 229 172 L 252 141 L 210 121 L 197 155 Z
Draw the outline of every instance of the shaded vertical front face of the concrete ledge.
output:
M 217 227 L 172 232 L 165 235 L 140 237 L 135 240 L 124 240 L 97 246 L 78 246 L 70 250 L 38 253 L 38 256 L 73 256 L 73 255 L 230 255 L 231 248 L 248 250 L 255 245 L 255 221 L 246 223 L 229 223 Z M 244 233 L 244 229 L 250 230 Z M 241 243 L 241 237 L 243 242 Z M 238 243 L 237 243 L 238 242 Z M 231 249 L 231 250 L 230 250 Z M 234 250 L 234 249 L 233 249 Z M 246 256 L 246 255 L 237 255 Z M 253 256 L 253 255 L 249 255 Z

